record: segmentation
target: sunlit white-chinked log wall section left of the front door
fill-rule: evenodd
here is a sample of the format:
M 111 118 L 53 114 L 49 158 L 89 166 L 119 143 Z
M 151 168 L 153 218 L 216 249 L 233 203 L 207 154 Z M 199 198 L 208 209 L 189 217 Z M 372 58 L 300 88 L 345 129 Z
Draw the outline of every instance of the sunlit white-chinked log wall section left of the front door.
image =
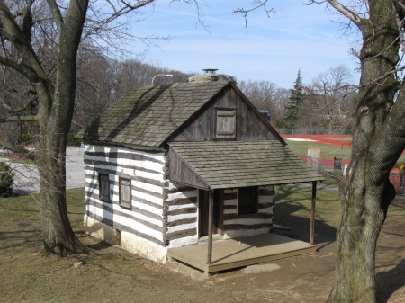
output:
M 166 235 L 170 247 L 198 241 L 198 190 L 176 183 L 166 187 Z

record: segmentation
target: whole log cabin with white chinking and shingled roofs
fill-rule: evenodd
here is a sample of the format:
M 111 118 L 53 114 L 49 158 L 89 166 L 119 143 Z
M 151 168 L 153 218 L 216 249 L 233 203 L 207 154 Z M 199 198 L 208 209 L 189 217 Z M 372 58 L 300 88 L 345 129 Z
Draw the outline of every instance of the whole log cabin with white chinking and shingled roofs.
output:
M 211 265 L 212 238 L 271 234 L 275 185 L 316 189 L 236 83 L 215 80 L 136 88 L 85 129 L 87 233 L 158 263 L 205 243 Z

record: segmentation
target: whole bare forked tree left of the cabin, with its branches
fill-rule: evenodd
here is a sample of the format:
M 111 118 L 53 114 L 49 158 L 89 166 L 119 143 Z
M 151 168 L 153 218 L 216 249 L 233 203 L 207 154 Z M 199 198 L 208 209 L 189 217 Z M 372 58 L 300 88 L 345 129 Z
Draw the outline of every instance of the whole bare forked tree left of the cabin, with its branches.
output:
M 40 128 L 37 164 L 46 251 L 61 255 L 85 251 L 72 231 L 66 206 L 67 134 L 75 104 L 79 45 L 83 39 L 102 39 L 108 45 L 112 37 L 133 37 L 125 31 L 119 34 L 119 18 L 154 2 L 93 1 L 89 6 L 89 0 L 0 0 L 0 64 L 23 75 L 38 100 L 38 112 L 25 119 Z M 42 59 L 45 52 L 55 56 Z

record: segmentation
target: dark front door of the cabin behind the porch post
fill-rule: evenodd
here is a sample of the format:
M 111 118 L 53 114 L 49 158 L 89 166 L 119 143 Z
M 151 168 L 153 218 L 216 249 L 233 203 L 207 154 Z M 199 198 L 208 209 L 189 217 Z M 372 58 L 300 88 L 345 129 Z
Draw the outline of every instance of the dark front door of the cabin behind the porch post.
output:
M 199 236 L 208 236 L 209 208 L 207 191 L 199 191 Z M 223 235 L 223 191 L 214 191 L 212 234 Z

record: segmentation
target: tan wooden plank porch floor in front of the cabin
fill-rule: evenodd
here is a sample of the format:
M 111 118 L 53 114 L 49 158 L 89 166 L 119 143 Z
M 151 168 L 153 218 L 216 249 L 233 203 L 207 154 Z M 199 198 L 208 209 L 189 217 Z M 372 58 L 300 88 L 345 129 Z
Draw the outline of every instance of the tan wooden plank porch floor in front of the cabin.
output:
M 208 243 L 170 248 L 167 255 L 202 272 L 220 272 L 316 251 L 316 245 L 286 236 L 266 234 L 217 240 L 212 244 L 212 263 L 207 264 Z

